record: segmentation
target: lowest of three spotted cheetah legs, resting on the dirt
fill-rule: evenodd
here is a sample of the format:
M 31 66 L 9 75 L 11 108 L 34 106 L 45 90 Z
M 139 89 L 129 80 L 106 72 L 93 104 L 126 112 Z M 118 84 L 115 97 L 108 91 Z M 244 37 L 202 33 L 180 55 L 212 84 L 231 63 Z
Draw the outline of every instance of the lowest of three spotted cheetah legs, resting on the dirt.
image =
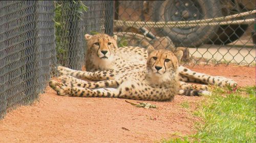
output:
M 81 87 L 70 87 L 67 84 L 51 80 L 50 87 L 57 92 L 59 96 L 74 97 L 119 97 L 120 92 L 115 88 L 87 89 Z

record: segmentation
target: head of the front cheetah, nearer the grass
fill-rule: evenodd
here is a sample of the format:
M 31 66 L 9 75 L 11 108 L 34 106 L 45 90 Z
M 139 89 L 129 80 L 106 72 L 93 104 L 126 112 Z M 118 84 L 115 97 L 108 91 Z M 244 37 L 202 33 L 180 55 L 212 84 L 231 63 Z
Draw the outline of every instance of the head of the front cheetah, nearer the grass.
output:
M 179 61 L 183 52 L 173 53 L 166 49 L 154 49 L 152 46 L 147 48 L 147 72 L 152 79 L 161 81 L 171 80 L 178 74 Z

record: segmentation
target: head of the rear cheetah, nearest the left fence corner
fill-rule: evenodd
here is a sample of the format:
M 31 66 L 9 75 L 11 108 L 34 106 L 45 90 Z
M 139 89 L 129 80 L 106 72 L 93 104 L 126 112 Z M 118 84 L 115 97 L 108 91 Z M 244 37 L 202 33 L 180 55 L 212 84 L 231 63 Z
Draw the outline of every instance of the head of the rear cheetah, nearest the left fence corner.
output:
M 117 36 L 106 34 L 84 35 L 87 43 L 87 51 L 97 60 L 108 60 L 117 50 Z

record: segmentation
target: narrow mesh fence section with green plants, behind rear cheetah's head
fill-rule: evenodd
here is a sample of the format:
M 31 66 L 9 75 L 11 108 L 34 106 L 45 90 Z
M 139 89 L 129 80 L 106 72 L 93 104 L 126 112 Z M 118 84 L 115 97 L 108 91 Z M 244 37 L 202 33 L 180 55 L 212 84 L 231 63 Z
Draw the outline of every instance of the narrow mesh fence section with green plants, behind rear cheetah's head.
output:
M 113 34 L 113 1 L 58 1 L 61 5 L 57 28 L 58 64 L 80 70 L 86 50 L 84 35 Z

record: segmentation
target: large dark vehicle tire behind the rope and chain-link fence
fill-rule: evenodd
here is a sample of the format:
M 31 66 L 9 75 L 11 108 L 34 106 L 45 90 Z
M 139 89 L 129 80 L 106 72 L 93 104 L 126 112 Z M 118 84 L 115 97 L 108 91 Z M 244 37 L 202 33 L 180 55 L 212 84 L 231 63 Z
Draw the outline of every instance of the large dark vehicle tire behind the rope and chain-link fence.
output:
M 185 3 L 191 4 L 191 7 L 185 6 Z M 176 4 L 176 6 L 175 6 Z M 177 4 L 181 4 L 177 6 Z M 181 16 L 181 11 L 187 12 L 189 16 Z M 174 12 L 174 11 L 177 12 Z M 191 16 L 190 11 L 193 13 Z M 222 16 L 221 5 L 219 1 L 212 0 L 167 0 L 155 1 L 153 3 L 153 20 L 154 21 L 184 21 L 184 20 L 199 20 Z M 174 16 L 176 14 L 176 16 Z M 195 16 L 196 14 L 196 16 Z M 177 18 L 180 15 L 180 19 Z M 218 25 L 214 26 L 195 26 L 195 27 L 165 27 L 156 28 L 156 31 L 161 36 L 169 36 L 176 46 L 195 47 L 203 43 L 207 43 L 212 36 L 217 32 Z

